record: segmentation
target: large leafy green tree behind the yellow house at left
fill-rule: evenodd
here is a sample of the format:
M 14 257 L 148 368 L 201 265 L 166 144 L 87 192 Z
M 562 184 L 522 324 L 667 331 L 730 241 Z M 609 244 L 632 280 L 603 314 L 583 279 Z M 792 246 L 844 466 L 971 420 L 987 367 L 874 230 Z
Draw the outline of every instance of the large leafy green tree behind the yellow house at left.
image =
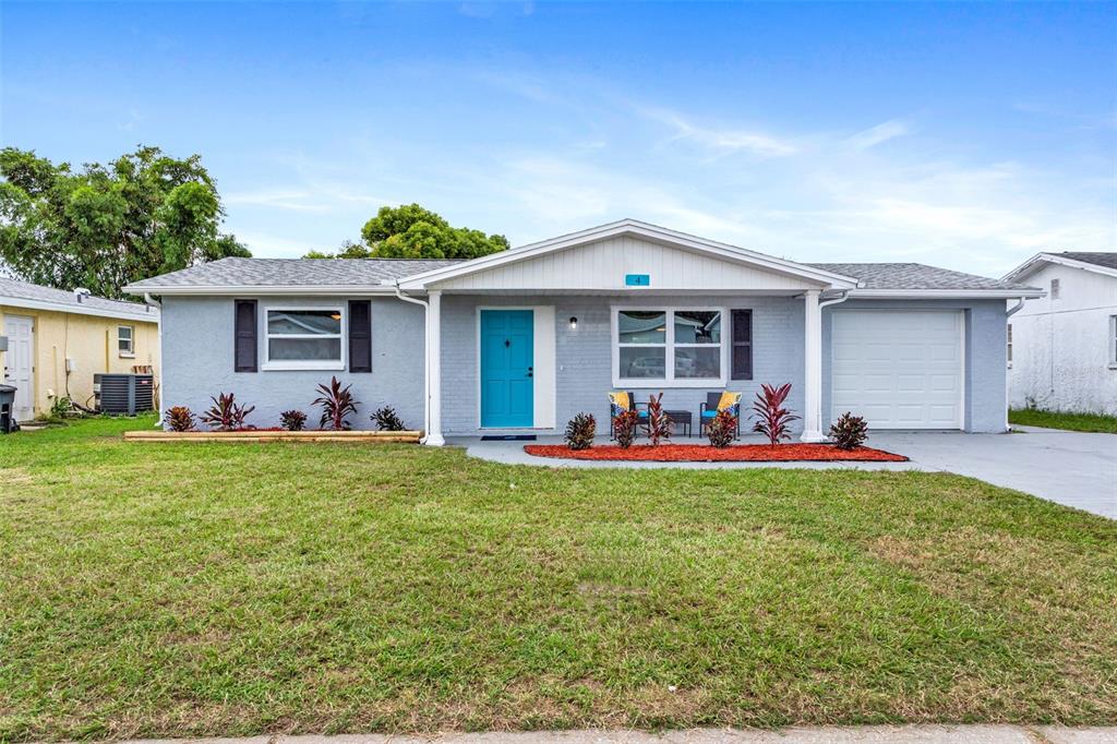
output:
M 219 227 L 213 180 L 191 155 L 139 147 L 74 171 L 34 151 L 0 150 L 0 263 L 59 289 L 121 297 L 121 287 L 248 249 Z

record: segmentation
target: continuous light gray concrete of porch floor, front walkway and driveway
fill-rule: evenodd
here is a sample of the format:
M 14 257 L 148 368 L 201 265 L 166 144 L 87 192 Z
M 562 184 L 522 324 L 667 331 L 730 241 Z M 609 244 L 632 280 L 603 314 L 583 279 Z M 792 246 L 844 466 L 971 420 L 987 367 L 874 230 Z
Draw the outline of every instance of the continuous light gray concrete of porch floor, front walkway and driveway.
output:
M 1019 433 L 973 435 L 961 431 L 881 431 L 868 445 L 906 455 L 909 462 L 602 462 L 532 457 L 524 441 L 480 441 L 476 437 L 452 440 L 470 457 L 507 465 L 550 467 L 632 468 L 856 468 L 859 470 L 945 470 L 980 478 L 995 486 L 1117 519 L 1117 435 L 1085 433 L 1025 427 Z M 682 443 L 705 443 L 677 438 Z M 745 443 L 762 440 L 743 437 Z M 538 443 L 561 443 L 557 437 L 541 437 Z M 601 440 L 601 443 L 607 443 Z

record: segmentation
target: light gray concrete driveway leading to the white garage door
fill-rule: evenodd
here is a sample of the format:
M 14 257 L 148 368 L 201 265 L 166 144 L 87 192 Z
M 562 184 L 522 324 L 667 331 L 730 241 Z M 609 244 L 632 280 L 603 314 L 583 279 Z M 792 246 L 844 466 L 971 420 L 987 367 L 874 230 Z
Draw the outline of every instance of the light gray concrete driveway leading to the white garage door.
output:
M 1010 435 L 878 432 L 869 445 L 1117 519 L 1117 435 L 1020 427 Z

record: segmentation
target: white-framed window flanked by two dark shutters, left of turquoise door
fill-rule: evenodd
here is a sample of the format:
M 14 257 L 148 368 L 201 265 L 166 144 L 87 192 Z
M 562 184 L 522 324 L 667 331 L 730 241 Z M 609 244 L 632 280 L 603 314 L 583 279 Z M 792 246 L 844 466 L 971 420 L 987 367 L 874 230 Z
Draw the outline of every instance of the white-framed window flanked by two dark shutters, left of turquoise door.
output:
M 265 369 L 345 366 L 342 307 L 269 307 L 264 316 Z

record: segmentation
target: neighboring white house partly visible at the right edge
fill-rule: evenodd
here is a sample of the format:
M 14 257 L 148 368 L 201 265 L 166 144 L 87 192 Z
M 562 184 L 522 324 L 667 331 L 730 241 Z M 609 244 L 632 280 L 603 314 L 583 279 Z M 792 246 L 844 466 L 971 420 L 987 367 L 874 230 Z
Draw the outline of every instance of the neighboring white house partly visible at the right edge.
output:
M 1012 407 L 1117 414 L 1117 252 L 1039 254 L 1004 279 L 1047 290 L 1009 318 Z

